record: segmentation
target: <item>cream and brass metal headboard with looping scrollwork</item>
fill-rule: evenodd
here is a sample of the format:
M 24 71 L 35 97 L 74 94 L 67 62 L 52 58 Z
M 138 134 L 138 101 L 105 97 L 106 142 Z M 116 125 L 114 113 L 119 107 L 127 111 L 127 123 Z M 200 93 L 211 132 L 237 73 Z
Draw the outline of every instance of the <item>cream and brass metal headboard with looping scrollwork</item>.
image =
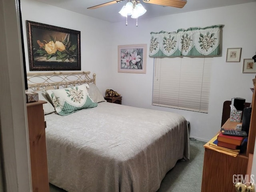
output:
M 89 77 L 90 71 L 82 72 L 39 72 L 27 73 L 28 91 L 46 89 L 53 86 L 54 89 L 66 88 L 81 84 L 96 84 L 96 74 Z

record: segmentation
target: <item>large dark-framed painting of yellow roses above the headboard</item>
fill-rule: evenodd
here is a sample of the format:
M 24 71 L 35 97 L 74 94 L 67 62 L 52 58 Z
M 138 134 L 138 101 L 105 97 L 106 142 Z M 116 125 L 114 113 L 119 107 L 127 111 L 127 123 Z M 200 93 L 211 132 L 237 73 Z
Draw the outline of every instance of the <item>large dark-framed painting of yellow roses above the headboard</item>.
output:
M 30 71 L 81 70 L 80 31 L 26 21 Z

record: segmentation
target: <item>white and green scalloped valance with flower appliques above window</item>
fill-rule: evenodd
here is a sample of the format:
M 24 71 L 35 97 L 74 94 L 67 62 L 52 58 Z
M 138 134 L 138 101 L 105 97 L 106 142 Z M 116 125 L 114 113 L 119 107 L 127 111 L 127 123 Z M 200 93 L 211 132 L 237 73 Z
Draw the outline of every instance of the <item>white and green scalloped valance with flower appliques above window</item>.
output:
M 149 57 L 217 56 L 223 25 L 192 27 L 177 32 L 151 32 Z

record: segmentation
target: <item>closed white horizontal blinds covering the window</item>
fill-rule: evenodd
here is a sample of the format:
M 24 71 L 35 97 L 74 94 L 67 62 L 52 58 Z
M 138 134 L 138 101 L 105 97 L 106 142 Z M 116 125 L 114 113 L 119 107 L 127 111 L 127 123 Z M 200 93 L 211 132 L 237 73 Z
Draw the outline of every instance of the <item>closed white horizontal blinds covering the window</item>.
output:
M 212 58 L 156 58 L 152 105 L 208 112 Z

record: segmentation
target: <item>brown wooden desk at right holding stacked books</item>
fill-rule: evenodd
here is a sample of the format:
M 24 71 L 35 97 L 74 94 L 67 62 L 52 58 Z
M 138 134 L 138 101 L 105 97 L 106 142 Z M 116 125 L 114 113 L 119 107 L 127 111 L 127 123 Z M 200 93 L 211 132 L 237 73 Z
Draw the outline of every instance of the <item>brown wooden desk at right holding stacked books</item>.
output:
M 222 127 L 235 128 L 236 124 L 239 123 L 228 120 Z M 254 92 L 252 96 L 252 114 L 246 151 L 234 157 L 220 150 L 214 150 L 214 148 L 211 148 L 207 144 L 204 145 L 204 168 L 201 192 L 235 192 L 233 182 L 236 182 L 237 175 L 243 175 L 245 178 L 246 174 L 250 174 L 250 168 L 247 169 L 247 167 L 249 156 L 252 156 L 254 153 L 255 136 L 256 98 Z M 241 182 L 241 180 L 238 182 Z

